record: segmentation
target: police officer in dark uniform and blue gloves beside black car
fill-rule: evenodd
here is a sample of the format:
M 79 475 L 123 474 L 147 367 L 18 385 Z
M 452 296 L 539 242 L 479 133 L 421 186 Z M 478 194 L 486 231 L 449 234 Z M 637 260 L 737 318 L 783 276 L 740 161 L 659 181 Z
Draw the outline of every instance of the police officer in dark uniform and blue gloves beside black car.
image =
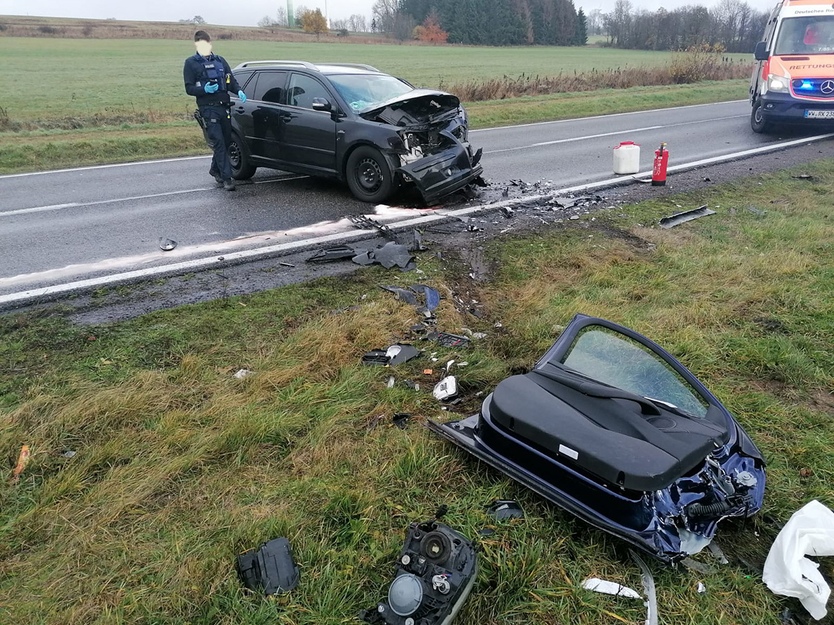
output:
M 197 53 L 185 59 L 183 67 L 185 92 L 197 98 L 200 115 L 206 124 L 208 143 L 214 150 L 208 173 L 226 191 L 234 191 L 232 163 L 229 161 L 229 143 L 232 142 L 229 92 L 237 93 L 241 102 L 246 102 L 246 94 L 234 79 L 226 59 L 212 53 L 208 32 L 198 30 L 194 33 L 194 47 Z

